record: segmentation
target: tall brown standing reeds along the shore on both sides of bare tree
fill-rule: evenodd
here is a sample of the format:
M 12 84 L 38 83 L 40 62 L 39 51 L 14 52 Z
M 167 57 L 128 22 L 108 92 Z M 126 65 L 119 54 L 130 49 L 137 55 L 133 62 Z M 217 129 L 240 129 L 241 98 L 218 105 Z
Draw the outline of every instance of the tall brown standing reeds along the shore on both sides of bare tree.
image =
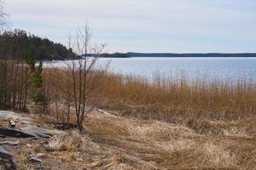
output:
M 71 89 L 66 83 L 70 75 L 69 71 L 61 69 L 44 71 L 46 94 L 56 105 L 71 102 L 66 98 Z M 256 84 L 252 81 L 224 82 L 205 77 L 191 80 L 183 74 L 167 79 L 154 74 L 150 81 L 143 77 L 102 72 L 96 77 L 96 84 L 90 83 L 90 79 L 87 84 L 96 86 L 93 92 L 96 104 L 93 105 L 98 109 L 116 112 L 119 116 L 183 124 L 198 133 L 256 132 L 253 127 Z M 236 128 L 226 129 L 235 125 L 247 127 L 237 132 Z

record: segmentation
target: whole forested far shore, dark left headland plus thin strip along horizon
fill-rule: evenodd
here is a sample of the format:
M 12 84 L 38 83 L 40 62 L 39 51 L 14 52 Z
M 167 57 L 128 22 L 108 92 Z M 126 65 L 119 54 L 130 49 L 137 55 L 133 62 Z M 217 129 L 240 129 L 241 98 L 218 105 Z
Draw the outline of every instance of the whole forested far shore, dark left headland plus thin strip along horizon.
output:
M 26 31 L 16 29 L 15 31 L 5 31 L 0 35 L 0 57 L 19 59 L 25 54 L 32 54 L 37 60 L 66 60 L 80 59 L 81 56 L 73 53 L 73 49 L 65 47 L 61 43 L 56 43 L 48 38 L 38 37 Z M 96 54 L 87 54 L 89 57 Z M 224 58 L 256 58 L 256 53 L 244 54 L 174 54 L 174 53 L 104 53 L 97 55 L 100 58 L 132 58 L 132 57 L 224 57 Z M 1 59 L 1 58 L 0 58 Z

